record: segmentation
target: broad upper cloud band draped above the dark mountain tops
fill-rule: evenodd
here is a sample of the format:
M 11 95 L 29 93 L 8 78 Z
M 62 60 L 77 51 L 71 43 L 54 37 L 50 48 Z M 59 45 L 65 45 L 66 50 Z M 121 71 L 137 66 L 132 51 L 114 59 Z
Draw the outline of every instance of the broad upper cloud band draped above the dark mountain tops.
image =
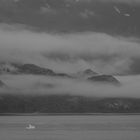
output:
M 133 37 L 94 32 L 37 33 L 6 26 L 0 26 L 1 61 L 34 63 L 68 72 L 91 67 L 101 73 L 124 74 L 140 56 L 139 39 Z

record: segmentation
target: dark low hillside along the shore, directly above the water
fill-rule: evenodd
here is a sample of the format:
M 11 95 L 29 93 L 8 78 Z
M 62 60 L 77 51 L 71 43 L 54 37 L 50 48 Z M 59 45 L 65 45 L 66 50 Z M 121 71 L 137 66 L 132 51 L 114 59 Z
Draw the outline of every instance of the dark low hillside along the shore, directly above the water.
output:
M 140 99 L 1 94 L 0 113 L 140 113 Z

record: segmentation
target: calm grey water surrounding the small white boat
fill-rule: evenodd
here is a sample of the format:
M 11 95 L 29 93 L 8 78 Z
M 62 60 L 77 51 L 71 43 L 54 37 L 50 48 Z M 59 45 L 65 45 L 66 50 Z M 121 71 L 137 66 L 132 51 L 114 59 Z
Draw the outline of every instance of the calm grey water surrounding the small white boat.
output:
M 140 140 L 140 115 L 2 116 L 0 140 Z

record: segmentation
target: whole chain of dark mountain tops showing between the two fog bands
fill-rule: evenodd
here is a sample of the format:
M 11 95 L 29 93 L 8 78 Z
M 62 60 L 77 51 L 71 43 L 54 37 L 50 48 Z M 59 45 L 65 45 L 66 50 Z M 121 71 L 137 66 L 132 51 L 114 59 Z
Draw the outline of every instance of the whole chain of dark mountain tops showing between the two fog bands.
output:
M 74 75 L 68 75 L 66 73 L 57 73 L 51 69 L 39 67 L 35 64 L 1 63 L 0 74 L 31 74 L 84 80 L 88 79 L 91 82 L 120 85 L 120 82 L 112 75 L 99 75 L 91 69 L 86 69 Z

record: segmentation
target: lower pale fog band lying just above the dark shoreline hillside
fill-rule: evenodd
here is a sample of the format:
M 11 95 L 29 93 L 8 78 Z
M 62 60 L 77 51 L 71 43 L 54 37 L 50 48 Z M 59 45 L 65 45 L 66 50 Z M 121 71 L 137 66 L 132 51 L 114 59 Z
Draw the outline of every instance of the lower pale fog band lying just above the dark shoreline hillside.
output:
M 116 77 L 121 87 L 95 84 L 88 81 L 52 78 L 46 76 L 11 76 L 0 78 L 7 84 L 7 89 L 0 89 L 0 94 L 70 94 L 92 97 L 132 97 L 140 98 L 140 76 Z M 52 85 L 52 86 L 48 86 Z

